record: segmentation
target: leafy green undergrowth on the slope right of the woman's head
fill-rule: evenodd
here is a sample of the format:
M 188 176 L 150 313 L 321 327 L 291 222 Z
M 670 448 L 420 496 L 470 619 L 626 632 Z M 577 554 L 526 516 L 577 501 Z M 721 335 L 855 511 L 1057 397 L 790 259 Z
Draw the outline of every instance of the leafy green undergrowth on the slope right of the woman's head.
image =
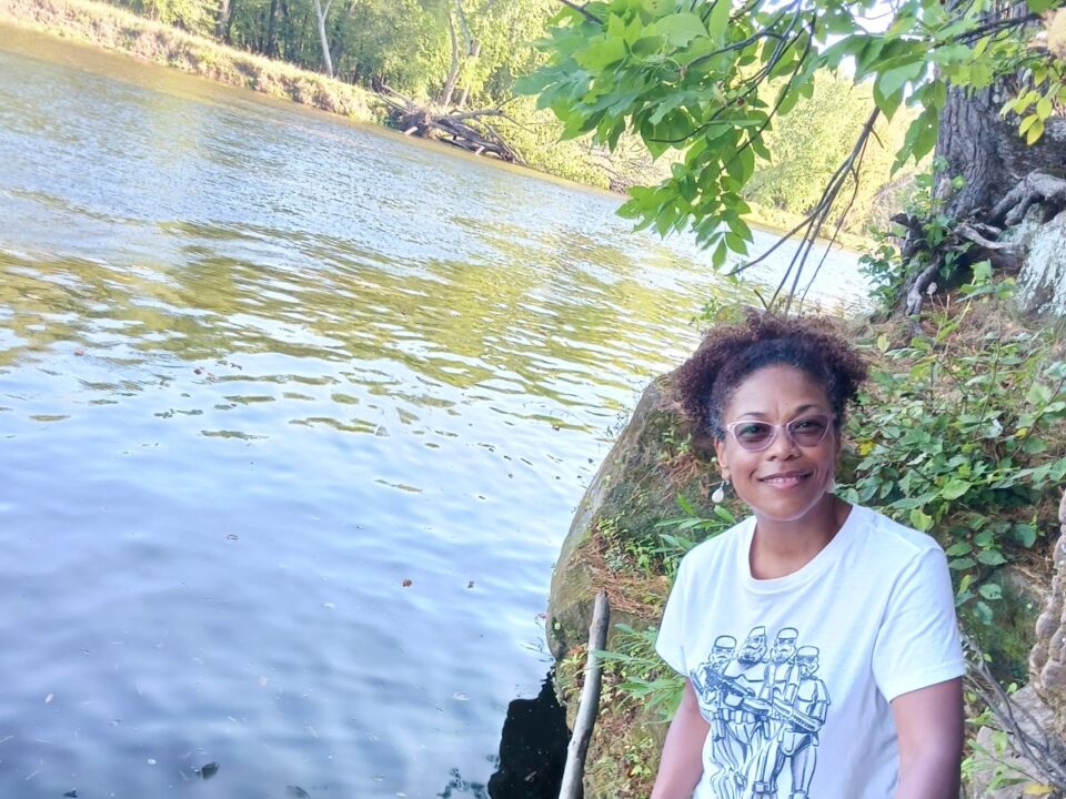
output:
M 1066 363 L 1047 330 L 1012 330 L 1000 311 L 984 331 L 969 320 L 998 307 L 982 299 L 1009 292 L 980 283 L 989 272 L 978 270 L 959 309 L 931 314 L 928 337 L 899 347 L 878 337 L 883 362 L 848 425 L 859 459 L 844 492 L 936 535 L 957 603 L 985 624 L 1003 594 L 997 569 L 1037 543 L 1066 477 Z

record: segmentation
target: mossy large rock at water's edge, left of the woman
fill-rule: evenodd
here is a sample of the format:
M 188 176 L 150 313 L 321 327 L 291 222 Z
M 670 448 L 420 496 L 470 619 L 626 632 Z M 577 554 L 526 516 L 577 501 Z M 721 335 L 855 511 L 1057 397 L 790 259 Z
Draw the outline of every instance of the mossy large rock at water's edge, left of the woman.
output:
M 717 472 L 708 444 L 693 439 L 670 398 L 670 376 L 660 377 L 585 492 L 552 576 L 547 611 L 555 688 L 571 727 L 595 595 L 607 591 L 612 624 L 644 629 L 657 623 L 670 586 L 656 569 L 642 567 L 642 558 L 654 562 L 663 532 L 656 525 L 680 515 L 678 495 L 702 515 L 712 513 Z M 612 629 L 609 649 L 615 648 L 615 635 Z M 621 696 L 617 681 L 617 675 L 604 678 L 585 762 L 585 799 L 646 796 L 657 767 L 666 725 L 656 711 Z

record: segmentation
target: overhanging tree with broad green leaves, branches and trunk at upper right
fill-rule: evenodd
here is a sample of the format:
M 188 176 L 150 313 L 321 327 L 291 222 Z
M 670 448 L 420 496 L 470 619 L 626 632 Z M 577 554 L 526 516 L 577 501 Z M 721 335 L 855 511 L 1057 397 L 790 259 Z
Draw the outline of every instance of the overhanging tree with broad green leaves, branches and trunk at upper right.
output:
M 955 174 L 973 185 L 1010 189 L 1018 180 L 1003 175 L 1027 180 L 1018 171 L 1024 160 L 1012 159 L 996 178 L 977 181 L 990 145 L 972 146 L 975 135 L 1007 124 L 1017 125 L 1027 144 L 1047 139 L 1043 150 L 1049 155 L 1037 165 L 1064 162 L 1064 62 L 1036 37 L 1040 14 L 1054 24 L 1066 0 L 894 0 L 887 7 L 876 0 L 563 2 L 545 43 L 549 61 L 523 90 L 540 94 L 565 124 L 565 135 L 592 132 L 613 146 L 628 130 L 653 155 L 682 151 L 684 161 L 667 180 L 630 191 L 622 213 L 663 234 L 691 227 L 716 267 L 728 251 L 746 254 L 752 241 L 742 191 L 757 162 L 770 159 L 765 135 L 775 119 L 811 97 L 821 69 L 869 88 L 873 102 L 858 135 L 793 231 L 802 231 L 801 246 L 772 300 L 784 297 L 786 309 L 785 287 L 798 282 L 815 237 L 843 222 L 854 188 L 844 190 L 855 185 L 879 117 L 892 119 L 905 103 L 917 111 L 897 169 L 921 161 L 941 139 Z M 761 91 L 772 81 L 781 88 L 764 99 Z M 1008 114 L 1002 125 L 1000 108 Z M 1055 134 L 1045 136 L 1052 129 Z M 958 183 L 947 182 L 945 193 Z M 990 191 L 980 198 L 996 200 Z M 988 211 L 989 220 L 1005 201 Z M 975 202 L 958 201 L 956 210 L 976 211 Z

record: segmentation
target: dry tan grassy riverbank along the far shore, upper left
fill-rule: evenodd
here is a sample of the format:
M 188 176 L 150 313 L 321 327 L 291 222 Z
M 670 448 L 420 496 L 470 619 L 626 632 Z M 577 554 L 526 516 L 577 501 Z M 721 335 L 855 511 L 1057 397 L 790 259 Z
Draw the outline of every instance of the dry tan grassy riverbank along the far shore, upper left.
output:
M 0 0 L 0 22 L 94 44 L 360 122 L 383 122 L 385 118 L 381 101 L 365 89 L 227 47 L 107 3 Z

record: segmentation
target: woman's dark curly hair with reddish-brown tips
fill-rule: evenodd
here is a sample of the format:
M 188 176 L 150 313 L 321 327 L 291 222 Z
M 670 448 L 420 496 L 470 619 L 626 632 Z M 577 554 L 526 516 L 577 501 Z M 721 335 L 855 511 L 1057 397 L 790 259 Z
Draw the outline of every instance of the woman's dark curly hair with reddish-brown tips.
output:
M 822 385 L 837 426 L 866 380 L 866 363 L 827 323 L 750 311 L 744 322 L 707 334 L 674 373 L 674 391 L 695 429 L 722 439 L 722 412 L 733 392 L 753 372 L 775 364 L 794 366 Z

